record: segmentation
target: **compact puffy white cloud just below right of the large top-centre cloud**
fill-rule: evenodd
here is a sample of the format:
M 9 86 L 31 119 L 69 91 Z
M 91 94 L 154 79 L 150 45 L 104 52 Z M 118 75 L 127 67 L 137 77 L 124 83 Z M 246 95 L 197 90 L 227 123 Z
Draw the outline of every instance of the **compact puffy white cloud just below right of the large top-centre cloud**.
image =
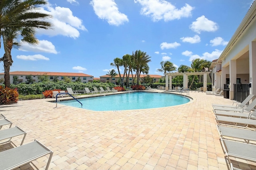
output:
M 207 18 L 205 18 L 205 16 L 198 17 L 196 21 L 192 22 L 189 27 L 192 31 L 198 34 L 200 34 L 201 31 L 215 32 L 216 30 L 218 30 L 218 24 L 216 22 L 208 20 Z

